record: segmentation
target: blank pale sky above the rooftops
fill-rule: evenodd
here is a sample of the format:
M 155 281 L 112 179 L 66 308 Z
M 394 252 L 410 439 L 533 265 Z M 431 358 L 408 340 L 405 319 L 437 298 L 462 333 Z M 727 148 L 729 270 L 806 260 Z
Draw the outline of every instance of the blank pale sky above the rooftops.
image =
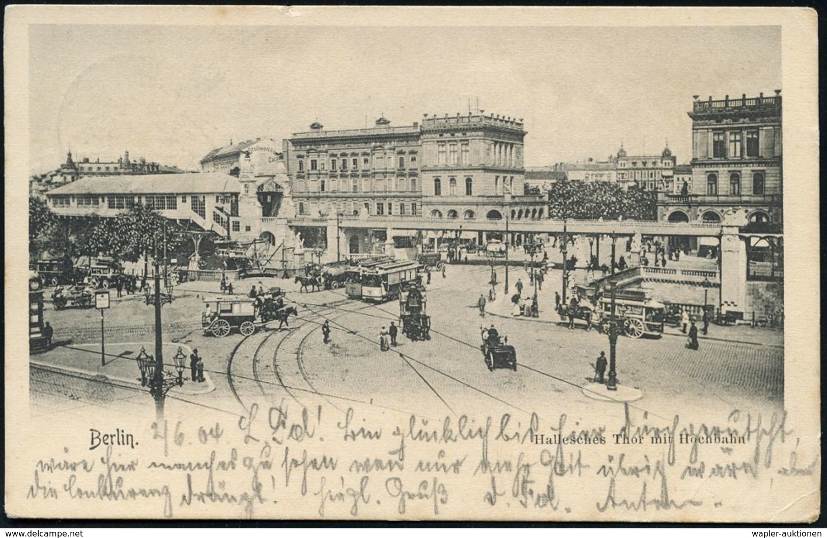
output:
M 778 27 L 31 26 L 31 169 L 75 157 L 195 169 L 255 137 L 423 113 L 523 118 L 525 162 L 691 159 L 692 95 L 772 94 Z

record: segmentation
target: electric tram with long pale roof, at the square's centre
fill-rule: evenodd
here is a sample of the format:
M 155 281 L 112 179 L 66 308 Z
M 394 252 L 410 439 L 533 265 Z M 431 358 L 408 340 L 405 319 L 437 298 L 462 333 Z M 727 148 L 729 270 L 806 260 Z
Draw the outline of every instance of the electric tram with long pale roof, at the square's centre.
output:
M 398 299 L 410 286 L 421 286 L 422 268 L 416 262 L 368 262 L 359 266 L 359 276 L 347 282 L 351 299 L 385 301 Z

